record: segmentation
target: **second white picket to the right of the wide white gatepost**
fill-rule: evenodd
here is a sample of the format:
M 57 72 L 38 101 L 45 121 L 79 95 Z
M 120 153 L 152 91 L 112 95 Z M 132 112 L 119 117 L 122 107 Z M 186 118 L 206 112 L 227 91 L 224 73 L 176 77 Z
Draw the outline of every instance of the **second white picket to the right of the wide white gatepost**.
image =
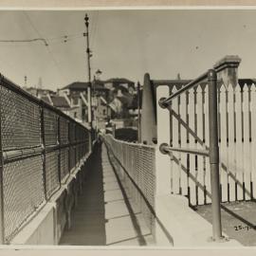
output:
M 180 96 L 180 147 L 186 148 L 187 145 L 187 97 L 186 93 Z M 181 154 L 181 173 L 180 173 L 180 187 L 183 195 L 188 194 L 188 167 L 187 167 L 187 154 Z

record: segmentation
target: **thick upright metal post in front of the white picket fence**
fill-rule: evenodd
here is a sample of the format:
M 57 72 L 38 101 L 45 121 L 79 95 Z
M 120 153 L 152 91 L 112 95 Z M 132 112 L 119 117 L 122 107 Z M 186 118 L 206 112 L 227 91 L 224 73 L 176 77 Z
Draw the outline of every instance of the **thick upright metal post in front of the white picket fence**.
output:
M 220 241 L 222 237 L 219 183 L 219 146 L 217 120 L 217 73 L 208 71 L 209 82 L 209 135 L 210 135 L 210 186 L 212 210 L 212 239 Z

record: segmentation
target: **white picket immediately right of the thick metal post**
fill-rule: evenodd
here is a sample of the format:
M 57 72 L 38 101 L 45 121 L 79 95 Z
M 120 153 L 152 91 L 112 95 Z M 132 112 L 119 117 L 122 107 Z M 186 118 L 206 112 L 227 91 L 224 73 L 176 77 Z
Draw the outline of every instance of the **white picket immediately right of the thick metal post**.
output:
M 228 201 L 228 173 L 227 173 L 227 100 L 226 87 L 220 87 L 220 183 L 222 188 L 222 202 Z

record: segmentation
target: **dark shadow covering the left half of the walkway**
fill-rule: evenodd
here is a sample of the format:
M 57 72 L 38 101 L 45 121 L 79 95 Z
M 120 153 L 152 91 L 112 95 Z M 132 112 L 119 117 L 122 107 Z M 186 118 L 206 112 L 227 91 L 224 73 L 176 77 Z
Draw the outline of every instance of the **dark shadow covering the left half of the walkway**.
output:
M 71 229 L 64 230 L 60 245 L 106 245 L 101 145 L 96 145 L 87 169 L 78 206 L 72 213 Z

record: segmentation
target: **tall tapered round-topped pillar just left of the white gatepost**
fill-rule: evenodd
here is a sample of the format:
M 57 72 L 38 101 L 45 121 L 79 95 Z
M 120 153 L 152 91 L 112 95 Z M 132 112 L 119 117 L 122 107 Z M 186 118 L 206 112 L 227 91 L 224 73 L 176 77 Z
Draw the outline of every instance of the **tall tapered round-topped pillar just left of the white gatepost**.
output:
M 155 91 L 150 75 L 144 76 L 141 109 L 141 142 L 152 145 L 156 138 Z

